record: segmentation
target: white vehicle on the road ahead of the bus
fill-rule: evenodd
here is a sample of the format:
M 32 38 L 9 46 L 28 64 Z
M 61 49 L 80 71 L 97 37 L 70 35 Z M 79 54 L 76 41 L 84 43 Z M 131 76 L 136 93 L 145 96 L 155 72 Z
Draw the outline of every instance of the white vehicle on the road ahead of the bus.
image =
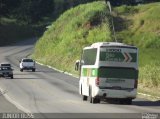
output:
M 35 61 L 29 58 L 23 58 L 20 61 L 20 71 L 23 72 L 23 70 L 32 70 L 32 72 L 35 72 Z

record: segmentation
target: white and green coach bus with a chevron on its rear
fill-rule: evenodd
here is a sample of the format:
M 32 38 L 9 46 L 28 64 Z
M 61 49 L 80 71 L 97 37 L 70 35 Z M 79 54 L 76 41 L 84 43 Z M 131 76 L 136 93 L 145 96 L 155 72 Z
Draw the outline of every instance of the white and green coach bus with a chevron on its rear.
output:
M 117 42 L 94 43 L 83 49 L 75 65 L 80 71 L 79 93 L 83 101 L 100 103 L 117 99 L 131 104 L 137 95 L 138 49 Z

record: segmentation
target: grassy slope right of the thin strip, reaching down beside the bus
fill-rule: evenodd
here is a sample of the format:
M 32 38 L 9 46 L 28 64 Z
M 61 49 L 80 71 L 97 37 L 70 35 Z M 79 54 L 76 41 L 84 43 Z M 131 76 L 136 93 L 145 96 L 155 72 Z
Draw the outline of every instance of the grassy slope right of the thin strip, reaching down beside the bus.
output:
M 160 3 L 115 8 L 117 37 L 139 47 L 139 90 L 160 96 Z

